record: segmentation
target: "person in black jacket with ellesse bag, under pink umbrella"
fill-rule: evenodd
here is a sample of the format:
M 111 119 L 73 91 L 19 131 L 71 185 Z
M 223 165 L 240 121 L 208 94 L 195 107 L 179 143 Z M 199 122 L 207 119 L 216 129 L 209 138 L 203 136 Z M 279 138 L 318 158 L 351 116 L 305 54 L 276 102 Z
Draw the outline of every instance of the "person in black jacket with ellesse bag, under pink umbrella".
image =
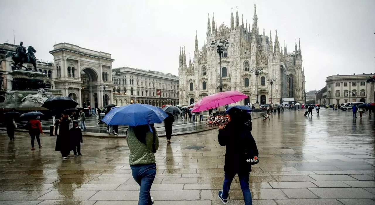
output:
M 258 149 L 248 127 L 243 122 L 241 110 L 231 108 L 228 114 L 228 124 L 225 127 L 220 125 L 219 135 L 217 135 L 219 144 L 226 146 L 223 190 L 219 191 L 218 196 L 224 204 L 228 202 L 229 189 L 237 174 L 245 205 L 252 205 L 249 189 L 251 166 L 246 162 L 245 150 L 251 149 L 258 156 Z

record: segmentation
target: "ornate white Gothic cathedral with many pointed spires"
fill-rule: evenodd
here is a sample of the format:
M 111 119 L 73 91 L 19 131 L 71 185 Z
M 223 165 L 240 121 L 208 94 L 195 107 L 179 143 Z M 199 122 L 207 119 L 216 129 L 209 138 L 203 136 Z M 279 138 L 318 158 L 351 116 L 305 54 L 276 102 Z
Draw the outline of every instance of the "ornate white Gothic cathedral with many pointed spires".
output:
M 198 38 L 195 34 L 195 49 L 193 60 L 189 55 L 189 65 L 186 64 L 186 53 L 180 49 L 179 99 L 181 105 L 187 105 L 200 100 L 202 97 L 215 94 L 220 89 L 220 70 L 222 69 L 222 90 L 237 90 L 248 95 L 242 104 L 256 103 L 258 79 L 258 95 L 260 104 L 280 104 L 283 97 L 294 97 L 296 101 L 303 103 L 303 91 L 305 89 L 305 75 L 302 67 L 301 46 L 297 48 L 297 40 L 293 52 L 287 52 L 284 42 L 284 51 L 281 48 L 277 30 L 275 42 L 272 35 L 266 32 L 260 33 L 258 28 L 258 16 L 254 5 L 254 17 L 252 29 L 239 22 L 238 11 L 234 21 L 233 11 L 231 24 L 222 23 L 216 25 L 214 16 L 210 22 L 208 15 L 207 42 L 212 40 L 228 39 L 230 47 L 222 54 L 222 67 L 219 68 L 219 56 L 216 49 L 211 51 L 209 43 L 204 43 L 198 48 Z M 251 72 L 252 68 L 262 68 L 258 78 Z M 267 80 L 276 79 L 271 85 Z

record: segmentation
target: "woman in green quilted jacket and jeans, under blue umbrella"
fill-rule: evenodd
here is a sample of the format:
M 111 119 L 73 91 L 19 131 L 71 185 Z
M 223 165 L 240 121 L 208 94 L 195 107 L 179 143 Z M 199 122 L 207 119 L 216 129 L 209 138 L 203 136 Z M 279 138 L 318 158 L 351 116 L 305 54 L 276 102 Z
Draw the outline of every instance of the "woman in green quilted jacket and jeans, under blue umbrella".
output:
M 132 175 L 141 186 L 138 205 L 152 205 L 154 199 L 150 196 L 150 189 L 156 175 L 154 153 L 159 148 L 156 129 L 153 124 L 129 126 L 126 136 L 127 146 L 130 150 L 129 164 Z

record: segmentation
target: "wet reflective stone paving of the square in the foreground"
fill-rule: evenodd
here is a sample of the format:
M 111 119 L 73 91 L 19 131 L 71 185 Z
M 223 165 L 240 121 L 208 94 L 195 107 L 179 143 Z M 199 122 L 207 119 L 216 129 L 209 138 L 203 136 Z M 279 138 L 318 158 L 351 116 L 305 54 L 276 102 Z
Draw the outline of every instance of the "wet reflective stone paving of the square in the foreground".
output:
M 317 116 L 285 111 L 253 120 L 260 163 L 253 166 L 254 204 L 375 204 L 375 120 L 321 109 Z M 0 204 L 138 204 L 126 139 L 84 138 L 81 157 L 63 161 L 55 137 L 30 150 L 27 133 L 0 132 Z M 221 204 L 225 147 L 217 130 L 160 138 L 151 189 L 156 205 Z M 243 204 L 238 177 L 228 204 Z

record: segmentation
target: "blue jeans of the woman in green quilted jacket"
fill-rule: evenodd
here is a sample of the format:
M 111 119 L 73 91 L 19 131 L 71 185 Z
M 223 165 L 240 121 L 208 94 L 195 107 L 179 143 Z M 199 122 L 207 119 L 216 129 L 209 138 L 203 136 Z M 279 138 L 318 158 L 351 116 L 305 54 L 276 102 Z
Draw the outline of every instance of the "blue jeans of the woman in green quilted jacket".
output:
M 150 189 L 156 175 L 156 163 L 130 165 L 134 180 L 141 186 L 138 205 L 151 205 Z

